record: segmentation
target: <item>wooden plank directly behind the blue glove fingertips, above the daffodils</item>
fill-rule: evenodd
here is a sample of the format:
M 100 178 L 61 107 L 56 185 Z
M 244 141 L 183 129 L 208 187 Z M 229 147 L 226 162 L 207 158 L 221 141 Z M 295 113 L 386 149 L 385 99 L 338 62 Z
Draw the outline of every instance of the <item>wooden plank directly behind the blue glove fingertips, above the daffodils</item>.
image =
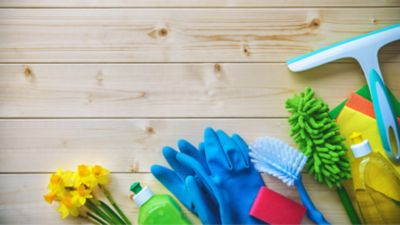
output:
M 163 146 L 184 138 L 197 145 L 212 126 L 252 141 L 270 135 L 290 142 L 286 119 L 18 119 L 0 120 L 0 172 L 49 172 L 99 163 L 114 172 L 165 165 Z

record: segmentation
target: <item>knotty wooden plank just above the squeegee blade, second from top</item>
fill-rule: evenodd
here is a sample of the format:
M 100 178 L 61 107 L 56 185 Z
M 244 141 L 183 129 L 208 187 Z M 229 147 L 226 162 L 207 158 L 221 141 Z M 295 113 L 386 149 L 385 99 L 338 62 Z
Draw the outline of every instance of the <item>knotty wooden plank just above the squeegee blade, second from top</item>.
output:
M 284 62 L 399 22 L 398 7 L 1 9 L 0 62 Z

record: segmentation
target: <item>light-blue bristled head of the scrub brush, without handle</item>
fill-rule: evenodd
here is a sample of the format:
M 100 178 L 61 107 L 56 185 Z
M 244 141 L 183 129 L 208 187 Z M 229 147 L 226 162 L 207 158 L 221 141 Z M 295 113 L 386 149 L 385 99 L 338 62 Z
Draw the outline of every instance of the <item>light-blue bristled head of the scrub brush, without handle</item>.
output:
M 275 138 L 258 138 L 250 145 L 251 161 L 260 172 L 293 186 L 307 162 L 307 156 Z

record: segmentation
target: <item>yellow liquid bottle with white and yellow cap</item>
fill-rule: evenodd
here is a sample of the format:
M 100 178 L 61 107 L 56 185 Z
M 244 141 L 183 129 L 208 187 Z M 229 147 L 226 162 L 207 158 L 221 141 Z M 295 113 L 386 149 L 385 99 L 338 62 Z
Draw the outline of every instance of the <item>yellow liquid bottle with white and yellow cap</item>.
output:
M 364 222 L 399 224 L 400 174 L 380 153 L 372 152 L 369 141 L 360 133 L 353 133 L 351 141 L 353 188 Z

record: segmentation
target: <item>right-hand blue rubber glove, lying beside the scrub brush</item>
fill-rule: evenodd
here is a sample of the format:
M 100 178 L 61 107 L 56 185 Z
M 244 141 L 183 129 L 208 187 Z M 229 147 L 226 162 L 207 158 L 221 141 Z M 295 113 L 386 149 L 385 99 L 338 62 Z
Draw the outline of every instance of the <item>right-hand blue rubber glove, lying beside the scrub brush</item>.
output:
M 247 144 L 239 135 L 230 138 L 221 130 L 207 128 L 204 146 L 208 169 L 187 154 L 176 157 L 215 195 L 222 224 L 264 224 L 249 215 L 264 182 L 249 160 Z

